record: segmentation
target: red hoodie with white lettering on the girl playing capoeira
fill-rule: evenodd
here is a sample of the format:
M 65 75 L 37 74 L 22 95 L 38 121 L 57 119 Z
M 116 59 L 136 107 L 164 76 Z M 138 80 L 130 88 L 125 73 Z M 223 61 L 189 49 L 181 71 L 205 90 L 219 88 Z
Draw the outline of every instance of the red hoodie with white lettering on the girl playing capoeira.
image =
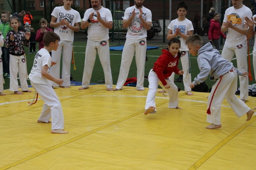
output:
M 180 53 L 176 57 L 166 49 L 162 49 L 162 55 L 157 59 L 154 63 L 153 70 L 156 72 L 157 77 L 165 86 L 167 84 L 166 78 L 172 75 L 172 72 L 178 74 L 180 69 L 178 69 L 179 58 L 181 56 Z

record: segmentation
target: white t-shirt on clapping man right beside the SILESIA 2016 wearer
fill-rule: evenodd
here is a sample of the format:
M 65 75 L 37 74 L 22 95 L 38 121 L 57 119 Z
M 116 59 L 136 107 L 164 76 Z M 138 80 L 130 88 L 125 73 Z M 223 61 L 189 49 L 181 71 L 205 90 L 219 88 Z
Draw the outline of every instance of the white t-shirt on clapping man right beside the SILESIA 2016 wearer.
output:
M 105 20 L 107 22 L 110 22 L 110 21 L 113 22 L 112 14 L 109 9 L 101 7 L 98 11 L 100 13 L 100 17 L 103 20 Z M 92 22 L 90 22 L 90 24 L 88 25 L 87 38 L 90 40 L 93 40 L 93 41 L 108 40 L 109 39 L 108 28 L 104 27 L 97 20 L 96 10 L 94 10 L 93 8 L 87 9 L 84 13 L 83 21 L 87 21 L 89 19 L 89 16 L 91 13 L 94 13 L 94 14 L 93 14 Z

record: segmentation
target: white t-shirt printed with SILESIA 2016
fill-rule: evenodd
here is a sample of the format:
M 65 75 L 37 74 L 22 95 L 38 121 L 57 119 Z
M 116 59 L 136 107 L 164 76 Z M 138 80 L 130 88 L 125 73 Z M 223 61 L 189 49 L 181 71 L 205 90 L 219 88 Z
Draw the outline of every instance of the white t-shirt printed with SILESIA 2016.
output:
M 66 20 L 69 22 L 69 25 L 74 26 L 75 23 L 81 22 L 81 17 L 78 11 L 76 10 L 65 10 L 63 6 L 55 7 L 51 14 L 57 18 L 56 22 L 61 20 Z M 54 32 L 59 35 L 60 40 L 72 41 L 74 40 L 74 31 L 70 28 L 67 28 L 65 25 L 60 25 L 59 27 L 54 28 Z

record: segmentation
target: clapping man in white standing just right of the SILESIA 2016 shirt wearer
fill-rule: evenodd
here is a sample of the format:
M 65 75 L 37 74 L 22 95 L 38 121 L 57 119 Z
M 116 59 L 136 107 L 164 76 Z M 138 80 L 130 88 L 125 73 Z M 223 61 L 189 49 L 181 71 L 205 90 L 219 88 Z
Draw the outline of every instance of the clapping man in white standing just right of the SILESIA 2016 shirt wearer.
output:
M 110 68 L 109 36 L 108 29 L 113 26 L 113 19 L 109 9 L 101 6 L 101 0 L 91 0 L 92 8 L 84 13 L 81 29 L 87 28 L 88 40 L 85 50 L 84 73 L 82 87 L 88 89 L 92 77 L 93 66 L 98 51 L 107 90 L 113 90 L 113 80 Z

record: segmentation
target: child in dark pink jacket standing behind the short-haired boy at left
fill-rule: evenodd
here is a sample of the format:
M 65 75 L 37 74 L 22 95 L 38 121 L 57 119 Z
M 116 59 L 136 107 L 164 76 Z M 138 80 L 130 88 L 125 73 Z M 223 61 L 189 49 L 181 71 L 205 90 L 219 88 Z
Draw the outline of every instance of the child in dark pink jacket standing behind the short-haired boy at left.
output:
M 41 50 L 41 48 L 44 48 L 44 41 L 43 41 L 44 34 L 47 33 L 47 31 L 53 31 L 51 28 L 48 28 L 48 25 L 49 24 L 46 19 L 44 18 L 40 19 L 39 21 L 40 29 L 37 30 L 36 36 L 35 36 L 35 41 L 39 42 L 39 50 Z

